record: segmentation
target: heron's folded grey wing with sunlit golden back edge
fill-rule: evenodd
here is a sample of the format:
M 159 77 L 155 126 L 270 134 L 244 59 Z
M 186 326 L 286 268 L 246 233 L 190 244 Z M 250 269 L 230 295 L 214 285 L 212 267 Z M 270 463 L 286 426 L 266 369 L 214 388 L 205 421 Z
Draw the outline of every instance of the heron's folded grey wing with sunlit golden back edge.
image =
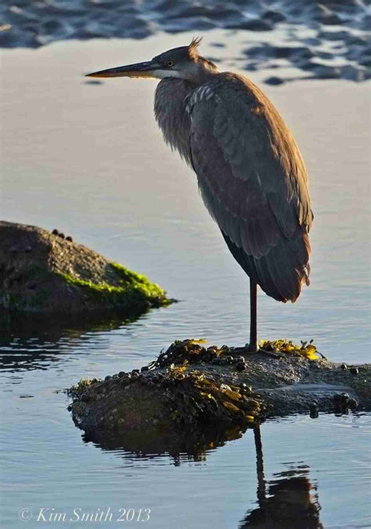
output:
M 310 251 L 303 236 L 312 221 L 301 155 L 257 87 L 233 74 L 216 77 L 188 103 L 202 198 L 250 277 L 276 299 L 294 300 Z M 282 272 L 285 267 L 291 271 Z M 274 284 L 281 284 L 279 295 L 272 294 Z

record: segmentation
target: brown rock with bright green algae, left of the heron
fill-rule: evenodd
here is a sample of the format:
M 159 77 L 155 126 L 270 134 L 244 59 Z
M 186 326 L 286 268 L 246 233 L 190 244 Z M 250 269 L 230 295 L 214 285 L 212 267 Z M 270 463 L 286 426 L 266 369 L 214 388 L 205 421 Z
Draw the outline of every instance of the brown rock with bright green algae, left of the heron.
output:
M 56 231 L 56 230 L 55 230 Z M 36 226 L 0 222 L 0 307 L 28 313 L 118 311 L 169 305 L 145 276 Z

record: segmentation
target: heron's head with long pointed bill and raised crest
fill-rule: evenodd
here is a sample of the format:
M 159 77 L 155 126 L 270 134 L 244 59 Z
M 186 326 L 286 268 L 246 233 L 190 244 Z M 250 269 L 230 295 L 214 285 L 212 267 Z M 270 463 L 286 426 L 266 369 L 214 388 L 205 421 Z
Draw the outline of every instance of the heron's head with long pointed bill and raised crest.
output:
M 193 39 L 189 46 L 165 51 L 151 61 L 95 71 L 87 74 L 87 77 L 142 77 L 147 79 L 176 77 L 196 85 L 202 84 L 209 75 L 217 74 L 219 70 L 213 62 L 199 56 L 200 42 L 201 39 Z

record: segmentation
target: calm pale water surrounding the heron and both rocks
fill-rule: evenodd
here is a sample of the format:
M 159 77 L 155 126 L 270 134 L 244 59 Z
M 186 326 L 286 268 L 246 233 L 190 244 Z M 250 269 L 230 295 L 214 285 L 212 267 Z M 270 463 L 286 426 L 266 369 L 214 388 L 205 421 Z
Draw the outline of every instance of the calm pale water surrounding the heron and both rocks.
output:
M 66 410 L 63 388 L 138 368 L 174 339 L 237 345 L 248 338 L 248 281 L 207 216 L 195 176 L 162 143 L 152 116 L 155 84 L 81 78 L 184 41 L 189 35 L 135 48 L 92 41 L 3 52 L 4 218 L 58 227 L 181 302 L 129 324 L 5 322 L 2 525 L 24 527 L 19 511 L 28 508 L 26 525 L 39 527 L 40 509 L 49 507 L 45 518 L 66 513 L 50 527 L 83 523 L 74 508 L 80 516 L 110 508 L 104 526 L 123 523 L 120 509 L 135 509 L 134 526 L 149 515 L 151 527 L 253 527 L 269 519 L 267 505 L 275 512 L 293 498 L 297 519 L 303 502 L 314 506 L 320 522 L 313 527 L 369 527 L 370 414 L 264 423 L 257 474 L 251 430 L 197 453 L 138 451 L 86 439 Z M 237 44 L 229 41 L 222 68 Z M 267 92 L 306 160 L 315 223 L 312 285 L 295 305 L 260 293 L 259 335 L 313 338 L 331 360 L 369 361 L 369 83 L 298 82 Z M 293 488 L 302 496 L 287 492 Z

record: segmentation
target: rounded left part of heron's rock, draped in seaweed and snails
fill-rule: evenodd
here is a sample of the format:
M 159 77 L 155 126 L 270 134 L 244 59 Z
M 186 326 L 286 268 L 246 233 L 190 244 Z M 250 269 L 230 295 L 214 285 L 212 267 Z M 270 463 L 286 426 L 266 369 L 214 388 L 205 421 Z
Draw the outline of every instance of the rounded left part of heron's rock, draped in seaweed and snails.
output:
M 68 394 L 74 399 L 74 419 L 83 428 L 243 426 L 258 423 L 266 411 L 251 388 L 213 380 L 187 361 L 158 374 L 83 379 Z

